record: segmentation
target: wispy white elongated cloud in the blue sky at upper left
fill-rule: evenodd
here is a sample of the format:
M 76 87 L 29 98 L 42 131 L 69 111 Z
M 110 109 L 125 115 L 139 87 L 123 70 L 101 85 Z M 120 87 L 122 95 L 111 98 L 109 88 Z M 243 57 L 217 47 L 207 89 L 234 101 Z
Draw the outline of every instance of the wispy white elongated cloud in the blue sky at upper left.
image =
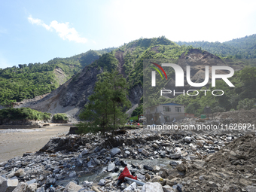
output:
M 69 27 L 69 22 L 66 23 L 58 23 L 56 20 L 53 20 L 50 23 L 50 26 L 45 24 L 42 20 L 34 19 L 32 16 L 28 17 L 28 20 L 32 24 L 36 24 L 38 26 L 43 26 L 47 30 L 54 29 L 60 38 L 63 40 L 68 39 L 69 41 L 75 41 L 77 43 L 86 43 L 87 38 L 82 38 L 75 28 Z

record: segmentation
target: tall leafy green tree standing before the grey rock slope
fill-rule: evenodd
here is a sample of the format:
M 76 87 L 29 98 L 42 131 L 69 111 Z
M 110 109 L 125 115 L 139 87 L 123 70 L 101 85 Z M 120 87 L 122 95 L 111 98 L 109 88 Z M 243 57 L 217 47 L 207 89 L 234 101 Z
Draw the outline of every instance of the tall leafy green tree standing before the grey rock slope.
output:
M 130 107 L 126 98 L 127 86 L 125 78 L 118 72 L 104 72 L 97 77 L 94 93 L 89 97 L 89 102 L 79 114 L 79 133 L 102 133 L 112 131 L 126 122 L 124 109 Z

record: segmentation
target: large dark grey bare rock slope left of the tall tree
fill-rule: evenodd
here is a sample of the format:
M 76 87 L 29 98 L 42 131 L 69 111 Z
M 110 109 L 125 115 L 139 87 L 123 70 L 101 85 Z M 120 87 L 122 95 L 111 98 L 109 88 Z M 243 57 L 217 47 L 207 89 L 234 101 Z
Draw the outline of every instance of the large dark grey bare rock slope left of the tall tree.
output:
M 88 101 L 88 96 L 93 93 L 97 75 L 102 69 L 87 66 L 74 78 L 66 81 L 56 90 L 44 95 L 42 98 L 29 100 L 19 107 L 29 107 L 38 111 L 49 113 L 66 113 L 69 119 L 76 118 L 81 108 Z

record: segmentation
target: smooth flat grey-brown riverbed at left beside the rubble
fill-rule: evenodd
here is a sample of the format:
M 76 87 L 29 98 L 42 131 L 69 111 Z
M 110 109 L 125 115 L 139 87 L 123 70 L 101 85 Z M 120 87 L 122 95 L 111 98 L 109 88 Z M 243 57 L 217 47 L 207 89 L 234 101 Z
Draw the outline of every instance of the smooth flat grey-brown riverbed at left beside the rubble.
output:
M 46 126 L 36 129 L 0 129 L 0 163 L 38 151 L 53 136 L 67 134 L 70 126 Z

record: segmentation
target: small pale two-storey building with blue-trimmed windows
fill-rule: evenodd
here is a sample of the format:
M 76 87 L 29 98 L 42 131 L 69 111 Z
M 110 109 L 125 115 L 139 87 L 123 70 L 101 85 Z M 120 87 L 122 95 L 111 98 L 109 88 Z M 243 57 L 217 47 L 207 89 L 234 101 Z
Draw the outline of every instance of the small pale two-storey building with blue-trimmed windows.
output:
M 163 124 L 174 122 L 185 117 L 184 105 L 169 102 L 145 108 L 145 117 L 148 124 Z

